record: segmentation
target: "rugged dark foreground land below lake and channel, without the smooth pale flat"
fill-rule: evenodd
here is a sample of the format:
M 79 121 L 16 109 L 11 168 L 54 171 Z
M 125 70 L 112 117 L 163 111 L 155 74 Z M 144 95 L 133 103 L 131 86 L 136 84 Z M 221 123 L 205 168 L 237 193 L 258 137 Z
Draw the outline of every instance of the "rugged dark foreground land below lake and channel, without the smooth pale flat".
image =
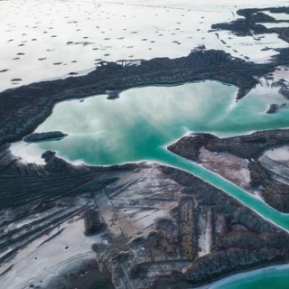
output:
M 79 234 L 98 234 L 93 250 L 108 269 L 102 275 L 96 262 L 84 261 L 80 269 L 64 267 L 44 288 L 84 288 L 81 280 L 99 283 L 102 276 L 117 288 L 191 288 L 288 261 L 286 232 L 187 172 L 155 163 L 75 166 L 52 152 L 43 157 L 44 166 L 16 161 L 1 173 L 0 190 L 10 192 L 0 201 L 1 264 L 17 269 L 17 252 L 45 235 L 40 247 L 57 240 L 70 227 L 50 235 L 53 229 L 82 215 Z M 43 287 L 33 277 L 29 282 Z

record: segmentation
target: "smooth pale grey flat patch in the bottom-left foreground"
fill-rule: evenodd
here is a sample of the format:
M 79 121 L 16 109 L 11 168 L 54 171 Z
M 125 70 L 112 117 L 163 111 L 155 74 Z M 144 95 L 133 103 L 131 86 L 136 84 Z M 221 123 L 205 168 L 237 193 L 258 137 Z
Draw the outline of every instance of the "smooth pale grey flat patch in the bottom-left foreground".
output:
M 51 236 L 61 229 L 63 232 L 46 242 Z M 70 219 L 61 224 L 48 236 L 44 235 L 33 241 L 15 256 L 14 270 L 1 277 L 1 288 L 29 288 L 37 285 L 45 285 L 52 277 L 59 275 L 61 270 L 76 261 L 95 258 L 91 245 L 102 242 L 98 236 L 86 237 L 83 219 Z M 1 268 L 1 273 L 8 269 Z

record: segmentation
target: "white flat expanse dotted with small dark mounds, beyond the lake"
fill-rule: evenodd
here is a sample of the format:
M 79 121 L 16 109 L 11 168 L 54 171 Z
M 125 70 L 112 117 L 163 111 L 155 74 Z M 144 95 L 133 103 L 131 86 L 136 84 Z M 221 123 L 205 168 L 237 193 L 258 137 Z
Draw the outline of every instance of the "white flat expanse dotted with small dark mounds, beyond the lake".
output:
M 238 8 L 271 5 L 268 0 L 0 1 L 0 91 L 70 72 L 86 74 L 98 61 L 181 57 L 199 45 L 267 61 L 275 51 L 263 48 L 288 46 L 275 34 L 256 41 L 208 31 L 213 23 L 236 19 Z

